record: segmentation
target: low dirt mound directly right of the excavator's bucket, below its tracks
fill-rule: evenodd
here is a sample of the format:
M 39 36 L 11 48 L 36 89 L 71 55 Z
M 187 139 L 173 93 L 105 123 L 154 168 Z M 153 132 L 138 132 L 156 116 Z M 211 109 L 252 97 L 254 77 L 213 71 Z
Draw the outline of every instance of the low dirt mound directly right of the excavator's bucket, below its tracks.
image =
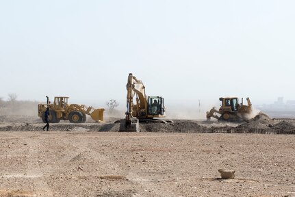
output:
M 199 125 L 197 122 L 192 120 L 175 120 L 171 123 L 140 123 L 140 131 L 142 132 L 183 132 L 183 133 L 194 133 L 194 132 L 205 132 L 205 127 Z

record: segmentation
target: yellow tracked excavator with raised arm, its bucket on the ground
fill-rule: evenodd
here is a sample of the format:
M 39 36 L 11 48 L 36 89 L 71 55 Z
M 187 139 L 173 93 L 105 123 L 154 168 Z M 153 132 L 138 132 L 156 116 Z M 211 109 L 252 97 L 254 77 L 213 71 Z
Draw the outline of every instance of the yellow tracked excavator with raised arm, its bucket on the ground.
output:
M 164 122 L 164 120 L 155 119 L 165 117 L 166 108 L 162 96 L 146 96 L 144 84 L 132 73 L 128 76 L 126 88 L 127 111 L 125 119 L 120 122 L 120 131 L 138 132 L 140 130 L 139 121 Z

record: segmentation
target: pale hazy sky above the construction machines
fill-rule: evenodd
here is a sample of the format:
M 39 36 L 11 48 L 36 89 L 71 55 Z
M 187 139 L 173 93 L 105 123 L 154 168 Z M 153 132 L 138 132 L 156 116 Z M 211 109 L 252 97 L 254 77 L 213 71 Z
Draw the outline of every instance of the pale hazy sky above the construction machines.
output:
M 295 1 L 0 1 L 0 97 L 295 100 Z

